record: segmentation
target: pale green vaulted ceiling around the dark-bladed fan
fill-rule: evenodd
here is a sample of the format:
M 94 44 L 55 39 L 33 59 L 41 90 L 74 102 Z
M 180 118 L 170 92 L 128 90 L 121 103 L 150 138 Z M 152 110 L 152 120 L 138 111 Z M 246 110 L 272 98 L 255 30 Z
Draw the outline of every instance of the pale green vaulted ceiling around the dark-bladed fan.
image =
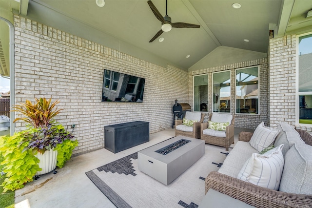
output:
M 165 16 L 166 0 L 152 2 Z M 234 3 L 241 7 L 235 9 Z M 307 18 L 311 0 L 168 0 L 167 5 L 172 22 L 198 24 L 200 28 L 172 28 L 149 42 L 161 22 L 147 0 L 105 0 L 103 7 L 96 0 L 0 0 L 0 17 L 13 22 L 13 10 L 135 57 L 185 70 L 219 46 L 266 54 L 270 30 L 274 37 L 312 31 L 312 17 Z M 0 21 L 0 73 L 6 76 L 8 33 Z

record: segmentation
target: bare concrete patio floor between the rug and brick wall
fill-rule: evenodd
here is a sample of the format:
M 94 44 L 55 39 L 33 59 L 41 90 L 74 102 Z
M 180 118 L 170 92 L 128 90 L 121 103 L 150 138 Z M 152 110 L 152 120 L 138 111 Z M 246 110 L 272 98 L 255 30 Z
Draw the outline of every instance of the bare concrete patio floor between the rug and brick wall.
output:
M 235 129 L 235 143 L 238 133 Z M 244 129 L 246 130 L 246 129 Z M 150 134 L 150 141 L 116 154 L 105 148 L 72 157 L 58 173 L 41 175 L 15 191 L 16 208 L 115 208 L 85 172 L 175 136 L 169 128 Z

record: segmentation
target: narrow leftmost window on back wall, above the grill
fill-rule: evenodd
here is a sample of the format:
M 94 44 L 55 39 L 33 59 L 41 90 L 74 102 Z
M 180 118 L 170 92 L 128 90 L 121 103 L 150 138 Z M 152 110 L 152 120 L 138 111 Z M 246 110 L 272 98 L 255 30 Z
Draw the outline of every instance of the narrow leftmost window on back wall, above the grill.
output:
M 194 111 L 208 111 L 208 74 L 193 77 Z

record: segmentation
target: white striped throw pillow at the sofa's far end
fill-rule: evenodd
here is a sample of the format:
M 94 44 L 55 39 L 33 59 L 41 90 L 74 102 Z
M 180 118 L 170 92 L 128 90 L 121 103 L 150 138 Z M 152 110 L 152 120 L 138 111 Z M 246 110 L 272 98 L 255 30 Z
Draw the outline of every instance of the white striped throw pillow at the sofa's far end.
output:
M 278 133 L 278 129 L 264 126 L 264 122 L 261 122 L 261 124 L 259 124 L 254 130 L 254 134 L 250 139 L 249 144 L 261 152 L 264 148 L 267 148 L 274 142 Z

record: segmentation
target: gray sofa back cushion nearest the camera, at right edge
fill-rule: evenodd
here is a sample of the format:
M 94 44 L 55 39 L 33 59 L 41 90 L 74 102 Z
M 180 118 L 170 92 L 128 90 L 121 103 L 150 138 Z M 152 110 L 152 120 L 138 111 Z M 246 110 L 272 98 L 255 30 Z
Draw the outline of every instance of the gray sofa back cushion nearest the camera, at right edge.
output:
M 312 194 L 312 146 L 294 144 L 285 155 L 279 190 L 296 194 Z

